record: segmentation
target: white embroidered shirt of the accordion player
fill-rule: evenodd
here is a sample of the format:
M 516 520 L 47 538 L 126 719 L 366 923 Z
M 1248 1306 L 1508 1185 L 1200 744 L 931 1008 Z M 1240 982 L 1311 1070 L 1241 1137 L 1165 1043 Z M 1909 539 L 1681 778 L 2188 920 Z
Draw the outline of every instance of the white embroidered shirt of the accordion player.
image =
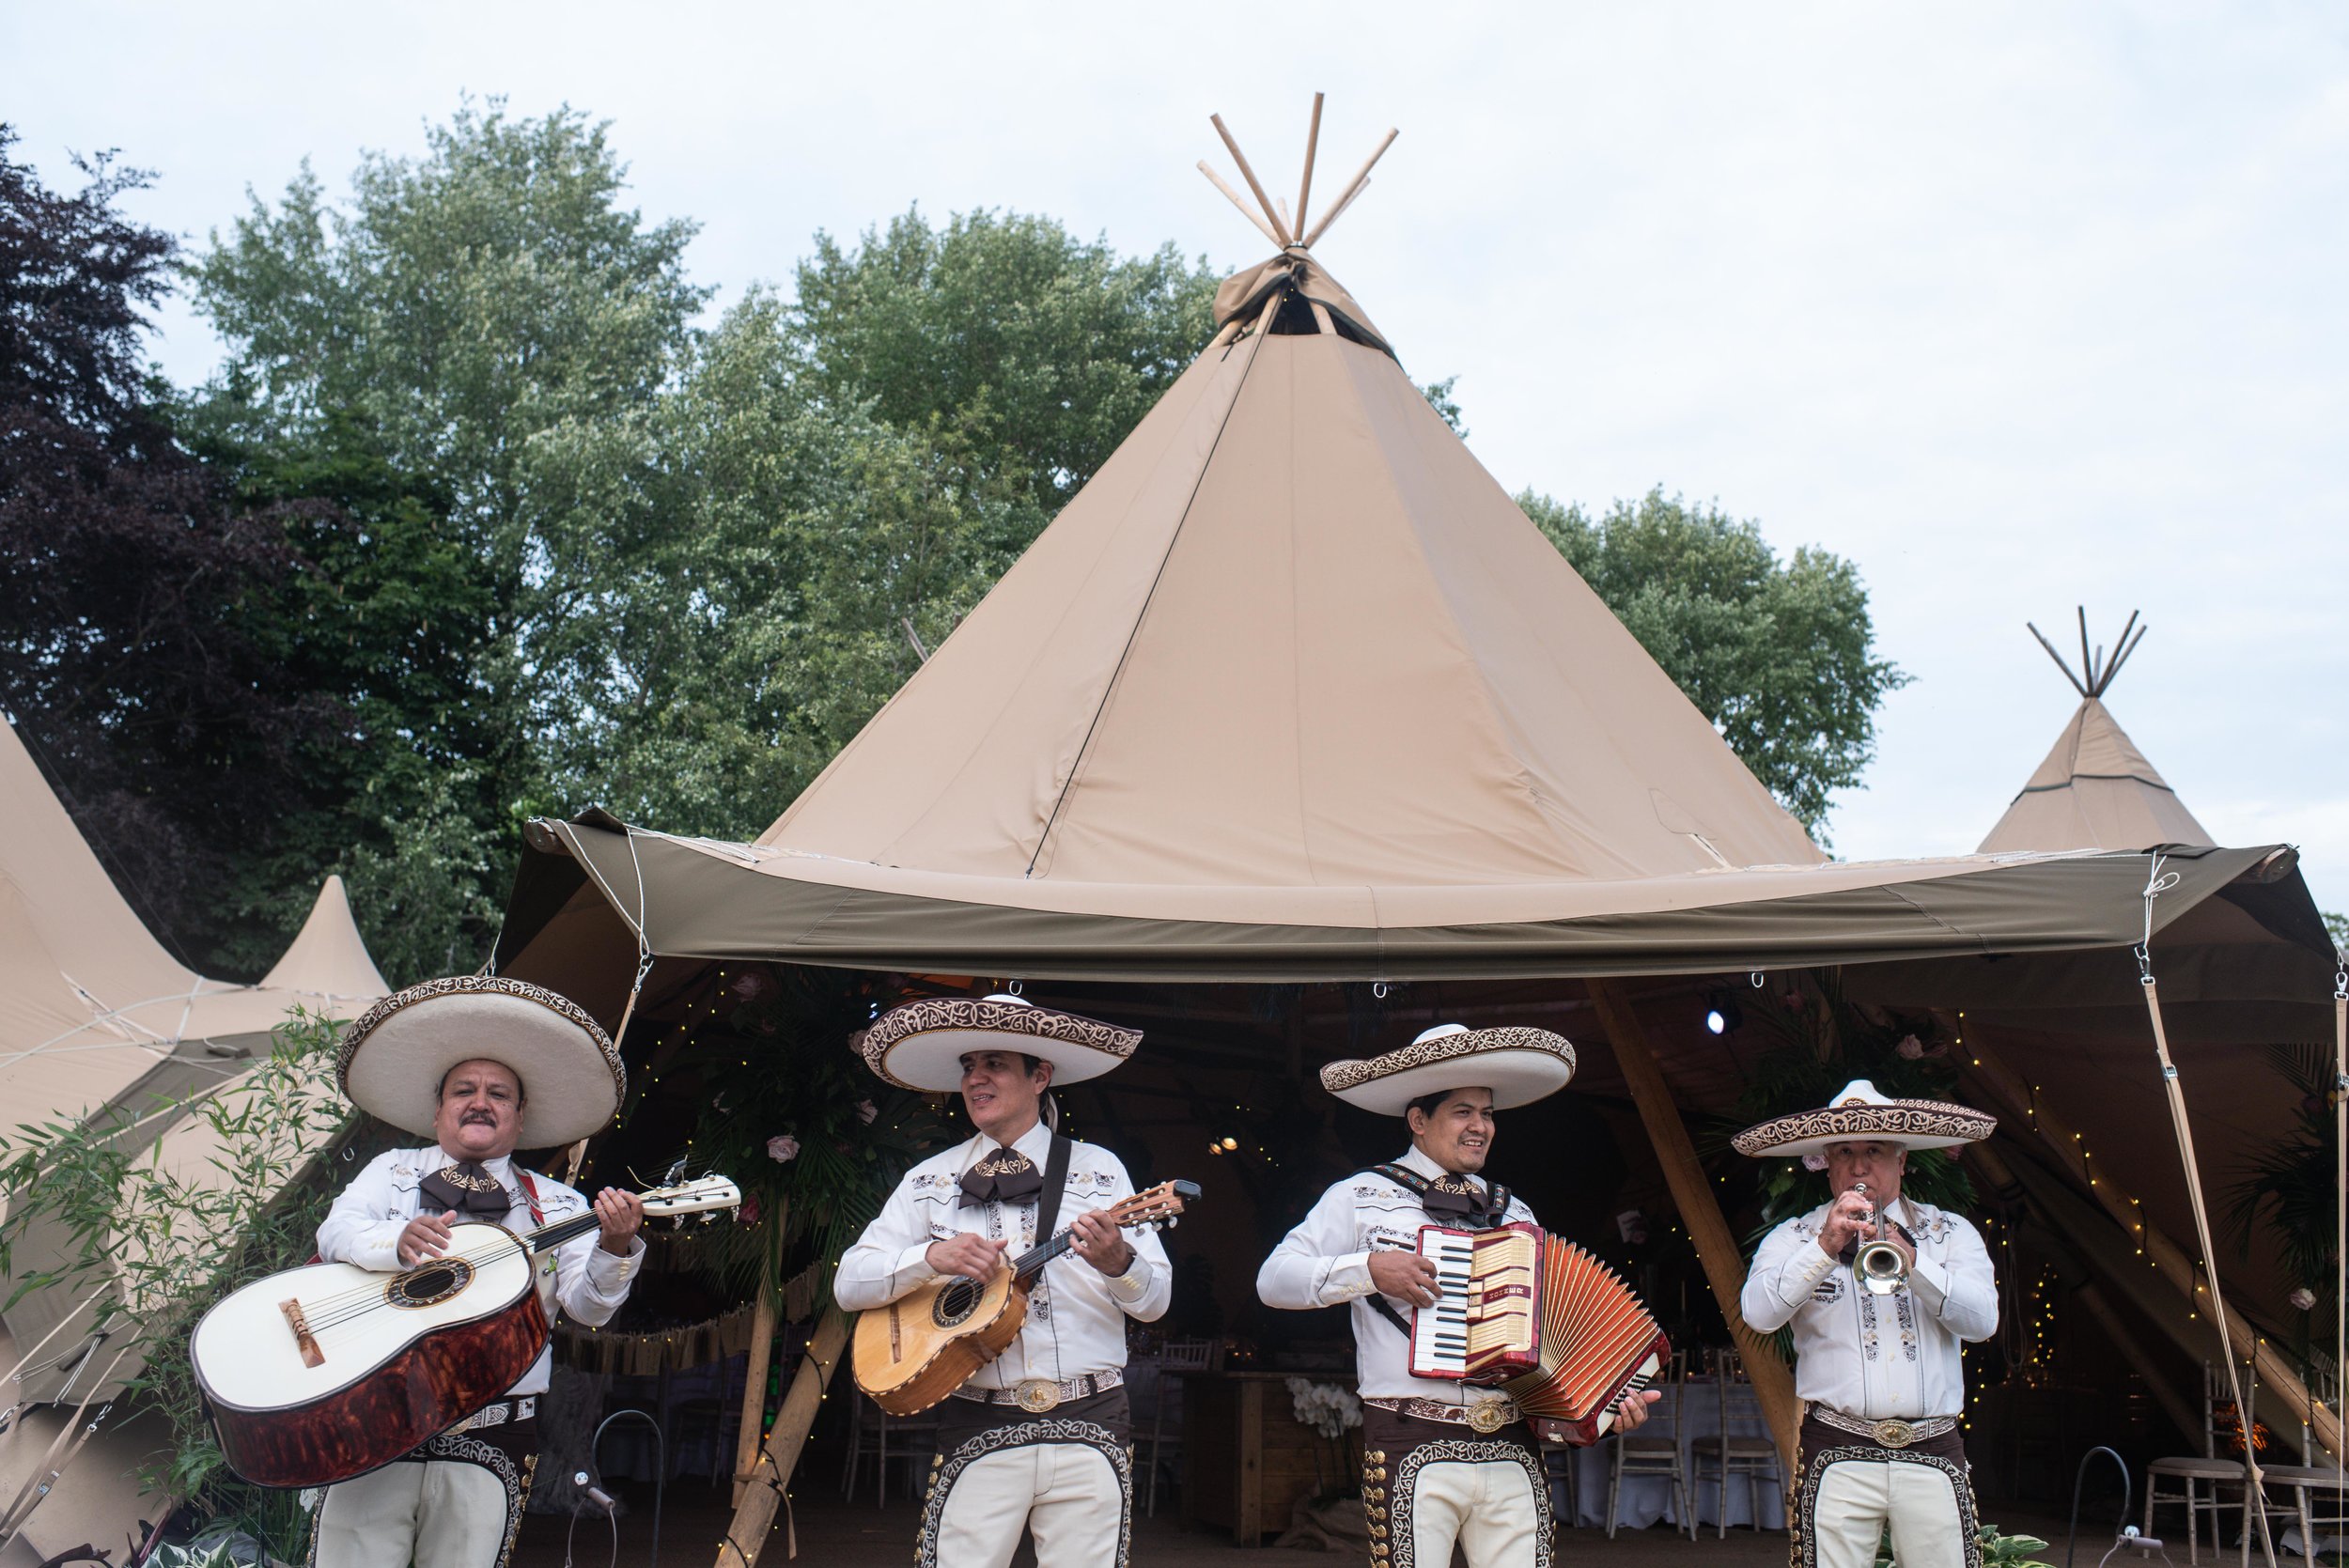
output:
M 1428 1181 L 1445 1176 L 1412 1145 L 1412 1153 L 1395 1164 L 1419 1171 Z M 1492 1183 L 1470 1176 L 1480 1188 Z M 1508 1199 L 1510 1225 L 1532 1225 L 1534 1211 L 1515 1195 Z M 1304 1223 L 1297 1225 L 1273 1256 L 1257 1270 L 1257 1296 L 1268 1307 L 1334 1307 L 1353 1303 L 1353 1354 L 1362 1399 L 1433 1399 L 1438 1404 L 1470 1406 L 1492 1399 L 1492 1390 L 1456 1383 L 1452 1378 L 1414 1378 L 1412 1343 L 1386 1322 L 1372 1303 L 1379 1289 L 1369 1282 L 1369 1253 L 1384 1249 L 1416 1251 L 1421 1225 L 1447 1225 L 1419 1207 L 1419 1197 L 1386 1176 L 1360 1171 L 1320 1195 Z M 1384 1298 L 1402 1322 L 1412 1322 L 1412 1303 L 1393 1296 Z

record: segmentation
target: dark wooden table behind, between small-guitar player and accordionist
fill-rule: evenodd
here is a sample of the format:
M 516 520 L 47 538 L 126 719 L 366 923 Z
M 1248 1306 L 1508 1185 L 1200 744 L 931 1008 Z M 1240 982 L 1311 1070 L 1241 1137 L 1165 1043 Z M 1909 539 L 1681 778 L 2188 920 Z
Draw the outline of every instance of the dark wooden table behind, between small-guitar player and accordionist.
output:
M 1292 1376 L 1182 1373 L 1184 1523 L 1224 1526 L 1233 1545 L 1254 1547 L 1285 1530 L 1297 1500 L 1327 1479 L 1330 1446 L 1297 1422 Z

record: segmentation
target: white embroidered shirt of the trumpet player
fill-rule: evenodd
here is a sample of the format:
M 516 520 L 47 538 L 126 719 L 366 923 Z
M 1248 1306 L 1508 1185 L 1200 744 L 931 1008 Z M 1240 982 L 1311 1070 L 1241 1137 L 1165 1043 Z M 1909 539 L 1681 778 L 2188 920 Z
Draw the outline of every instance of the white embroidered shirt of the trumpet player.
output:
M 1961 1345 L 1999 1329 L 1990 1249 L 1957 1214 L 1903 1197 L 1917 1268 L 1889 1296 L 1858 1289 L 1818 1244 L 1828 1204 L 1762 1237 L 1738 1310 L 1762 1333 L 1795 1324 L 1795 1394 L 1846 1415 L 1966 1413 Z

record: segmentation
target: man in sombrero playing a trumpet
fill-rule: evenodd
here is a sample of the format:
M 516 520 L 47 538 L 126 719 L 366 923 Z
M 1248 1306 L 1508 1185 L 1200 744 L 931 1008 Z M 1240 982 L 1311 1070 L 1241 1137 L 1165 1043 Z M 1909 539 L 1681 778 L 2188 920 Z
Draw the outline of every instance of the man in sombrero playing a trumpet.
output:
M 1759 1333 L 1795 1331 L 1795 1568 L 1872 1568 L 1886 1530 L 1900 1568 L 1983 1563 L 1959 1357 L 1997 1331 L 1999 1284 L 1973 1225 L 1907 1197 L 1900 1178 L 1910 1150 L 1992 1127 L 1968 1106 L 1886 1099 L 1858 1077 L 1820 1110 L 1734 1138 L 1741 1155 L 1828 1171 L 1828 1202 L 1762 1237 L 1738 1300 Z

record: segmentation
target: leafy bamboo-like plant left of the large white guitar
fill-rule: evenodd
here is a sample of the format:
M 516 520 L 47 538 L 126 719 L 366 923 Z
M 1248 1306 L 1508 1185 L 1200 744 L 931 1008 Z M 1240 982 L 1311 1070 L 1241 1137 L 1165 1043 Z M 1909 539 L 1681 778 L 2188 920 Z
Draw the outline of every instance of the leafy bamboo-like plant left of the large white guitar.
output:
M 186 1340 L 221 1296 L 312 1253 L 334 1197 L 327 1155 L 355 1131 L 334 1094 L 338 1038 L 338 1021 L 296 1009 L 270 1056 L 226 1087 L 0 1138 L 7 1303 L 45 1289 L 96 1296 L 92 1333 L 103 1338 L 82 1387 L 120 1378 L 113 1404 L 148 1406 L 171 1432 L 141 1469 L 141 1495 L 284 1559 L 308 1528 L 298 1500 L 226 1467 Z

